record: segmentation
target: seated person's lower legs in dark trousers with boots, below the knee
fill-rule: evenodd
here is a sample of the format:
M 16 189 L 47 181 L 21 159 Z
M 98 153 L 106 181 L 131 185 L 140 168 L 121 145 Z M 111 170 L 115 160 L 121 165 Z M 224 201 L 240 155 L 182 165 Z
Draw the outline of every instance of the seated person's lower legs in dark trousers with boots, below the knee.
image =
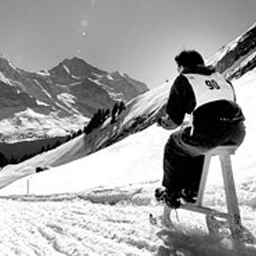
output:
M 176 131 L 166 143 L 162 182 L 165 188 L 155 189 L 156 200 L 165 201 L 172 208 L 180 206 L 182 197 L 195 202 L 204 160 L 202 149 L 183 143 L 183 135 L 184 130 Z

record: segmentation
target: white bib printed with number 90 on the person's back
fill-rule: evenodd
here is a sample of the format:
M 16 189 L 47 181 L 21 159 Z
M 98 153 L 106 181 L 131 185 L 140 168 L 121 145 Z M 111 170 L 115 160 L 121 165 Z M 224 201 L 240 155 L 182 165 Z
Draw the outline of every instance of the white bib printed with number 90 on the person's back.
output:
M 234 90 L 231 85 L 219 74 L 201 75 L 195 73 L 183 74 L 189 79 L 189 84 L 195 94 L 195 109 L 208 102 L 219 100 L 235 101 Z

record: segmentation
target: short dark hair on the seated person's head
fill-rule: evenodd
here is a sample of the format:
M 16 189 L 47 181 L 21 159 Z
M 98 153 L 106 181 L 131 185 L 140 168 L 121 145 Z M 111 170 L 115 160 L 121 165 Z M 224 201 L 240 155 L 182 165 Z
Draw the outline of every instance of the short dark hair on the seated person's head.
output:
M 177 62 L 177 66 L 183 66 L 188 68 L 197 67 L 199 65 L 204 66 L 205 61 L 200 53 L 195 50 L 183 50 L 174 59 Z

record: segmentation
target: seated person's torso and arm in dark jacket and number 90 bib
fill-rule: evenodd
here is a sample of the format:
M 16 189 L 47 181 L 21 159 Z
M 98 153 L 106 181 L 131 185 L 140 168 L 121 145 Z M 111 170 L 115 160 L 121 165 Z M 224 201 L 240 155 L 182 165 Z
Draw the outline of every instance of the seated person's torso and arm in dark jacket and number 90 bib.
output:
M 183 68 L 172 85 L 172 91 L 176 93 L 170 94 L 166 113 L 177 122 L 183 120 L 185 113 L 192 114 L 193 133 L 207 137 L 201 146 L 218 146 L 223 138 L 215 145 L 216 137 L 222 137 L 225 130 L 229 131 L 231 126 L 244 120 L 232 84 L 211 67 Z

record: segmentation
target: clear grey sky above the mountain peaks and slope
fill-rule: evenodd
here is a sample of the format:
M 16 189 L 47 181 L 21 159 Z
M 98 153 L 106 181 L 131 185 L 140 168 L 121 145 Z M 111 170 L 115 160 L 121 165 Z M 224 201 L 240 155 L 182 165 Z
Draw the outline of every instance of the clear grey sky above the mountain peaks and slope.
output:
M 154 88 L 177 74 L 180 51 L 211 56 L 255 13 L 255 0 L 1 0 L 0 52 L 32 72 L 79 56 Z

